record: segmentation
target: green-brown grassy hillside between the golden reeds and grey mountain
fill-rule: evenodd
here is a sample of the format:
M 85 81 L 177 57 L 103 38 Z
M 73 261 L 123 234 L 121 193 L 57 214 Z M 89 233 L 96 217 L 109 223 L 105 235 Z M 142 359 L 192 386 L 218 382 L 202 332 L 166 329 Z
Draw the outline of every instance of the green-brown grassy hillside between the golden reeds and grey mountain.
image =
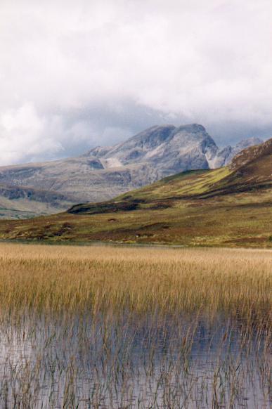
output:
M 99 203 L 1 221 L 2 240 L 272 247 L 272 139 L 219 169 L 184 171 Z

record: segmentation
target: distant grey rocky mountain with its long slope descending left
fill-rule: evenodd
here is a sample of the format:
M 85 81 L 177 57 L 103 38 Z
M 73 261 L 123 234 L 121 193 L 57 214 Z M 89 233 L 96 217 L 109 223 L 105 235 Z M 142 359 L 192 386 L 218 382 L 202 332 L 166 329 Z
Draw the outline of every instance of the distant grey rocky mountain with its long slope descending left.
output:
M 79 157 L 0 167 L 0 217 L 51 214 L 78 202 L 109 200 L 181 171 L 224 166 L 255 143 L 257 138 L 221 150 L 202 125 L 163 125 Z

